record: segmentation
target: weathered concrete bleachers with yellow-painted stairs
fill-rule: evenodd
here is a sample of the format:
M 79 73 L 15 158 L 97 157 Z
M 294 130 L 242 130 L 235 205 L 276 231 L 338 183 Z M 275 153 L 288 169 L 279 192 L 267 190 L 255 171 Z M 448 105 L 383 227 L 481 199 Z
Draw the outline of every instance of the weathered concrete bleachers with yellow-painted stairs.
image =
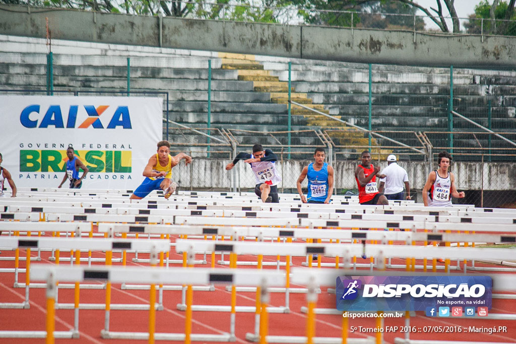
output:
M 0 42 L 2 88 L 43 90 L 48 52 L 45 40 L 0 36 Z M 56 91 L 123 92 L 127 83 L 126 57 L 130 57 L 133 92 L 168 92 L 171 120 L 192 127 L 206 127 L 207 67 L 208 59 L 211 59 L 212 127 L 282 131 L 287 125 L 290 61 L 293 101 L 367 127 L 368 65 L 364 63 L 85 42 L 52 43 Z M 372 81 L 374 130 L 413 130 L 414 127 L 447 130 L 449 69 L 375 65 Z M 516 73 L 513 71 L 455 69 L 454 108 L 488 126 L 487 102 L 491 100 L 491 127 L 511 130 L 516 125 L 514 85 Z M 292 115 L 293 130 L 343 126 L 295 105 Z M 456 120 L 454 126 L 465 130 L 472 128 L 460 120 Z M 240 143 L 254 143 L 253 135 L 236 135 Z M 403 135 L 388 136 L 404 139 Z M 367 145 L 367 139 L 360 133 L 346 133 L 341 139 L 342 144 Z M 444 141 L 439 141 L 444 139 L 444 136 L 435 138 L 434 146 L 446 146 Z M 196 139 L 192 140 L 195 142 Z M 263 140 L 264 143 L 267 140 L 276 143 L 272 138 L 264 137 Z M 300 139 L 294 136 L 293 144 L 296 140 Z M 317 144 L 315 140 L 304 137 L 302 144 Z M 471 140 L 456 137 L 455 145 L 471 146 Z M 487 137 L 479 137 L 479 140 L 487 146 Z M 493 145 L 495 141 L 492 138 Z

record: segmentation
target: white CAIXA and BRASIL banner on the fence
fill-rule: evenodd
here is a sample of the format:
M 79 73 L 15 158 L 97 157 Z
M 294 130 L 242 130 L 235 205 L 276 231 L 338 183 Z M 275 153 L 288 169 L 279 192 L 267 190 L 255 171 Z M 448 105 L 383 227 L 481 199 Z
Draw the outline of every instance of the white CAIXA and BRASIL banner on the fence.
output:
M 133 189 L 162 139 L 157 97 L 0 95 L 0 108 L 2 166 L 19 187 L 57 187 L 73 146 L 83 188 Z

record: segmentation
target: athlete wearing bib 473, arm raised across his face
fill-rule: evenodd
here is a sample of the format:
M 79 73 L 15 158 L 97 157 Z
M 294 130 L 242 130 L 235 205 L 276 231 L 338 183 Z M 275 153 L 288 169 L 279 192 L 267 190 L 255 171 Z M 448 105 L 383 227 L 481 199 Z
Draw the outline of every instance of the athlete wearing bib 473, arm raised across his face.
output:
M 264 150 L 261 144 L 253 145 L 253 154 L 240 152 L 233 162 L 228 163 L 226 170 L 235 167 L 238 160 L 249 163 L 256 178 L 254 193 L 265 203 L 279 203 L 278 183 L 281 177 L 276 171 L 278 157 L 271 150 Z

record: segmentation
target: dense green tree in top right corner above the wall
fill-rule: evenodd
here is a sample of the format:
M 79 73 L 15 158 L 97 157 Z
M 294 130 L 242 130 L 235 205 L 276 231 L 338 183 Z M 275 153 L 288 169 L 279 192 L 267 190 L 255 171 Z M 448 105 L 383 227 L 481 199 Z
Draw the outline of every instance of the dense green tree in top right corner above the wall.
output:
M 515 3 L 516 0 L 510 0 L 508 4 L 494 0 L 490 5 L 488 0 L 483 0 L 475 6 L 475 13 L 464 24 L 466 32 L 479 35 L 483 31 L 486 35 L 516 36 Z

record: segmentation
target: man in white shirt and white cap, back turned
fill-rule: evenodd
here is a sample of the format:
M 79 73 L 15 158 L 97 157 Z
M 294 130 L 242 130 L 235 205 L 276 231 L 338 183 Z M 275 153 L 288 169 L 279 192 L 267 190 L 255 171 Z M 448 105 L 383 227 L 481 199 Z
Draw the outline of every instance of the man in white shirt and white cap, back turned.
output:
M 385 186 L 383 194 L 388 200 L 410 200 L 409 176 L 407 175 L 407 171 L 399 166 L 396 160 L 396 155 L 394 154 L 387 157 L 387 163 L 389 166 L 384 168 L 381 172 L 380 187 L 378 188 L 378 191 L 382 192 L 383 187 Z M 403 192 L 404 184 L 405 190 L 407 190 L 406 198 L 404 197 Z

